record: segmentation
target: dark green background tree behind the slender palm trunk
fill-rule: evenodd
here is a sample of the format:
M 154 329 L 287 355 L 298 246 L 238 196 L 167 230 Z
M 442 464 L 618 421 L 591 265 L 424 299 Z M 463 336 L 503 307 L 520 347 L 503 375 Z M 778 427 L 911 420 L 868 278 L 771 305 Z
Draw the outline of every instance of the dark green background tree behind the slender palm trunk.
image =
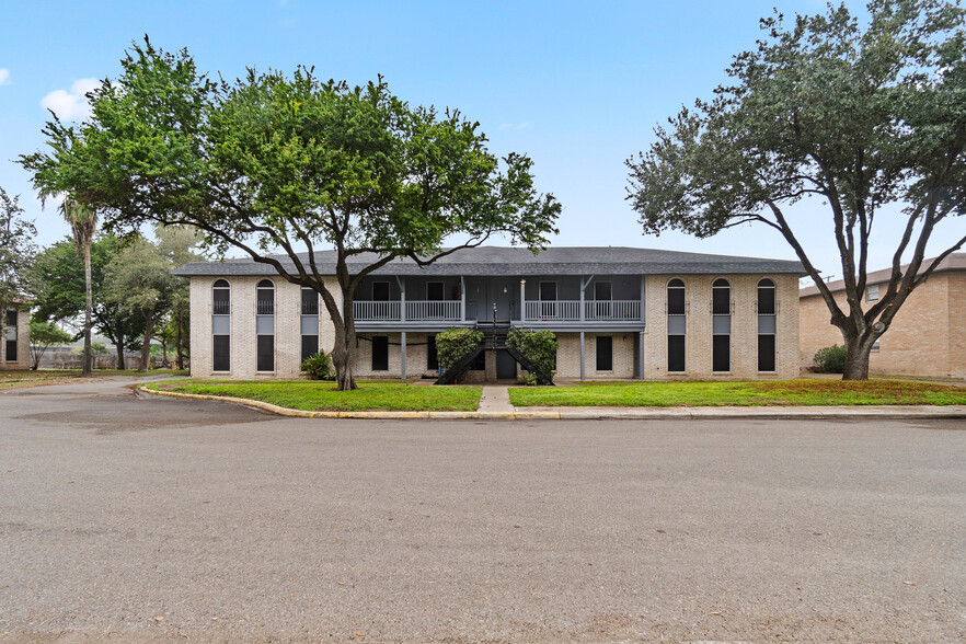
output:
M 120 241 L 102 233 L 91 244 L 91 289 L 93 295 L 94 329 L 107 337 L 117 350 L 117 368 L 125 368 L 124 354 L 139 350 L 143 321 L 117 303 L 106 299 L 104 281 L 106 268 L 117 255 Z M 82 317 L 85 306 L 85 275 L 83 260 L 74 249 L 73 240 L 56 242 L 41 251 L 33 266 L 31 295 L 34 298 L 33 318 L 39 322 L 72 324 Z M 78 337 L 83 333 L 81 326 Z

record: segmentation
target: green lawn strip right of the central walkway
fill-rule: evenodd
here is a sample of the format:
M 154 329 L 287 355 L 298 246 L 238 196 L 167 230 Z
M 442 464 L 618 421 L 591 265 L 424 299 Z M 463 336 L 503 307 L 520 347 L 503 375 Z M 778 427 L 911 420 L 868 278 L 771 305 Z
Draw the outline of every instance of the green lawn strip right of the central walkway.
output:
M 953 405 L 966 388 L 908 380 L 739 382 L 595 382 L 511 388 L 516 406 Z

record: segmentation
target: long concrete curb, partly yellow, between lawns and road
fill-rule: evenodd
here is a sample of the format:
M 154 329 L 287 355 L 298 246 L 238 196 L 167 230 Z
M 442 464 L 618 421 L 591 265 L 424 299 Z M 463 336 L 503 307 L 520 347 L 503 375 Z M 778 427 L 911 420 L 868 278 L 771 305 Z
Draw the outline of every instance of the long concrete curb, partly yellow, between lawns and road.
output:
M 629 410 L 605 409 L 538 409 L 515 412 L 303 412 L 257 400 L 227 395 L 205 395 L 148 389 L 140 383 L 137 391 L 191 400 L 230 402 L 262 410 L 279 416 L 299 418 L 363 418 L 381 421 L 896 421 L 966 418 L 966 405 L 948 406 L 797 406 L 797 407 L 657 407 Z M 525 407 L 526 409 L 526 407 Z

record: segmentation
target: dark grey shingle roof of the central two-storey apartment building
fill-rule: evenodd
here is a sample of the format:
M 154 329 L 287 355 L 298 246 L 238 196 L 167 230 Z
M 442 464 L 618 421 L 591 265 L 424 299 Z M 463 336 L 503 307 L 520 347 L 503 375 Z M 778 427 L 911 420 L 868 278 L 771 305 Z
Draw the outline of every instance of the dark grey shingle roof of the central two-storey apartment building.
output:
M 291 267 L 288 256 L 275 255 L 284 266 Z M 308 267 L 308 253 L 299 255 Z M 349 271 L 375 262 L 376 255 L 353 257 Z M 323 275 L 335 274 L 335 251 L 315 253 L 315 263 Z M 533 254 L 527 249 L 480 246 L 464 249 L 421 268 L 409 258 L 393 260 L 375 272 L 376 275 L 642 275 L 642 274 L 740 274 L 793 273 L 804 275 L 802 263 L 787 260 L 760 260 L 729 255 L 705 255 L 654 249 L 624 246 L 554 246 Z M 268 264 L 250 258 L 225 262 L 192 262 L 174 272 L 184 277 L 199 275 L 275 275 Z

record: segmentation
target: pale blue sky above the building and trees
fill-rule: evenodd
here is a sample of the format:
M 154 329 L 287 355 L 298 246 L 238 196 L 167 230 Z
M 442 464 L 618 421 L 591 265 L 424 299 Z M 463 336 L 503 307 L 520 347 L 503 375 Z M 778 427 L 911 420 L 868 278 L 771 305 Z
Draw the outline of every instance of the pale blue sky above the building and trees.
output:
M 249 67 L 314 66 L 320 77 L 352 84 L 382 74 L 411 104 L 459 108 L 480 122 L 493 152 L 533 160 L 538 188 L 563 205 L 553 245 L 794 260 L 762 226 L 706 240 L 644 235 L 625 200 L 625 160 L 646 150 L 654 127 L 682 105 L 712 95 L 732 57 L 755 46 L 758 20 L 773 7 L 792 15 L 825 3 L 0 0 L 0 186 L 21 196 L 39 244 L 68 233 L 14 160 L 44 147 L 48 108 L 83 118 L 84 92 L 115 78 L 125 49 L 148 34 L 161 48 L 186 47 L 200 69 L 227 79 Z M 870 269 L 890 262 L 900 222 L 892 219 L 873 237 Z M 841 277 L 827 210 L 804 203 L 793 220 L 819 269 Z M 944 229 L 938 232 L 942 239 Z

